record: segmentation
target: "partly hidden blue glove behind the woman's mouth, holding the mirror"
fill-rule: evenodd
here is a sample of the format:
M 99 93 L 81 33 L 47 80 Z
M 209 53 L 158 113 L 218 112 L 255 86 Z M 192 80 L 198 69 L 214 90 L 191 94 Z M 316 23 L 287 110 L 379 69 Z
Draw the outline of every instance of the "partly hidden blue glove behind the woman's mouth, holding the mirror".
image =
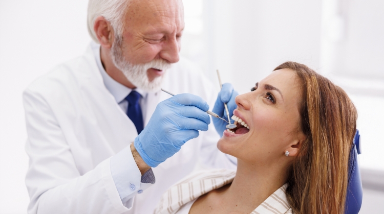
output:
M 217 113 L 221 118 L 228 120 L 224 103 L 227 103 L 229 116 L 232 117 L 233 110 L 238 107 L 234 102 L 234 98 L 238 95 L 239 93 L 236 90 L 233 90 L 233 86 L 230 83 L 224 83 L 223 88 L 217 96 L 217 100 L 212 111 Z M 220 137 L 222 137 L 224 130 L 227 129 L 225 126 L 228 125 L 228 123 L 225 123 L 223 120 L 216 117 L 212 117 L 212 121 L 214 122 L 216 131 L 220 134 Z

